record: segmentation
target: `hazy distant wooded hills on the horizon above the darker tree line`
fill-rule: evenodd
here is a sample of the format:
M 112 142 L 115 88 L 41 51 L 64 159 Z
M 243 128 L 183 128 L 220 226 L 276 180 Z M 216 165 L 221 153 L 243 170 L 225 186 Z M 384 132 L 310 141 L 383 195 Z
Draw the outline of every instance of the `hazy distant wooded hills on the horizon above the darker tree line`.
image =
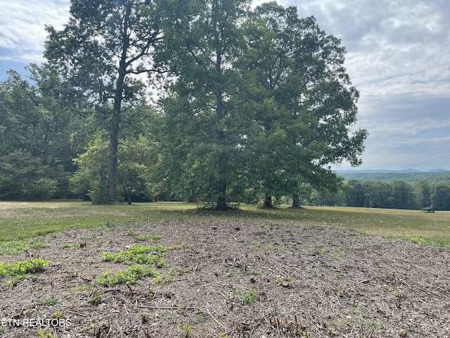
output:
M 344 177 L 345 181 L 357 180 L 392 182 L 396 180 L 416 184 L 425 181 L 430 184 L 450 182 L 450 170 L 435 169 L 430 171 L 420 170 L 336 170 L 336 174 Z

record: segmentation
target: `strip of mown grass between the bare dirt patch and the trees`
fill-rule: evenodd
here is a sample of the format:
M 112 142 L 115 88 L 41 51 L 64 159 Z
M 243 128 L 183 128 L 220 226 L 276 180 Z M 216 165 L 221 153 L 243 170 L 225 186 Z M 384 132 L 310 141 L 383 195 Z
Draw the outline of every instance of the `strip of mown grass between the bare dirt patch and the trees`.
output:
M 0 202 L 0 242 L 20 241 L 72 227 L 169 220 L 279 220 L 298 225 L 342 227 L 387 237 L 401 237 L 432 246 L 450 247 L 450 212 L 282 206 L 273 210 L 252 205 L 238 211 L 214 212 L 196 204 L 155 202 L 97 206 L 84 201 Z

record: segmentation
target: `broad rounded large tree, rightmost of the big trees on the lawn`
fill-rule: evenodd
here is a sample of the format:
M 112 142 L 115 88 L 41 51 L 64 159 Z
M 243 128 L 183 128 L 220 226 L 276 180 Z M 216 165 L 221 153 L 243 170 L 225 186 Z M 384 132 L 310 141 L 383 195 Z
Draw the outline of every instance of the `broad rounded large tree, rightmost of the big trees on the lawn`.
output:
M 236 65 L 259 125 L 249 139 L 266 206 L 273 194 L 293 194 L 297 204 L 304 184 L 335 189 L 330 164 L 358 165 L 367 135 L 351 131 L 359 92 L 344 67 L 345 48 L 314 17 L 276 2 L 253 11 L 245 37 L 248 49 Z

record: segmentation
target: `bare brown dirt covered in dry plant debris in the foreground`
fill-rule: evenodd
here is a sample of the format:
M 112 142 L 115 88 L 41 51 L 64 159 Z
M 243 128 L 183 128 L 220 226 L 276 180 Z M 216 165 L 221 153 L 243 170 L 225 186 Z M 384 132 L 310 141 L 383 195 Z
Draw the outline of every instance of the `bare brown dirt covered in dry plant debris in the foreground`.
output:
M 129 223 L 37 240 L 48 246 L 0 256 L 50 261 L 0 281 L 1 337 L 450 337 L 444 249 L 267 222 Z M 134 244 L 177 245 L 155 268 L 162 278 L 98 284 L 129 268 L 102 253 Z

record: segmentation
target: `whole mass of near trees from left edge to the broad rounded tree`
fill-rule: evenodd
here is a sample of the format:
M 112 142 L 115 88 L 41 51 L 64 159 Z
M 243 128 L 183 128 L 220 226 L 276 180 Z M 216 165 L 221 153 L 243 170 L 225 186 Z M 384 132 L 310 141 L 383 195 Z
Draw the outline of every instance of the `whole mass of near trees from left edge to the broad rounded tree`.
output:
M 300 206 L 361 163 L 345 48 L 295 6 L 72 0 L 46 30 L 46 62 L 0 83 L 1 199 Z

